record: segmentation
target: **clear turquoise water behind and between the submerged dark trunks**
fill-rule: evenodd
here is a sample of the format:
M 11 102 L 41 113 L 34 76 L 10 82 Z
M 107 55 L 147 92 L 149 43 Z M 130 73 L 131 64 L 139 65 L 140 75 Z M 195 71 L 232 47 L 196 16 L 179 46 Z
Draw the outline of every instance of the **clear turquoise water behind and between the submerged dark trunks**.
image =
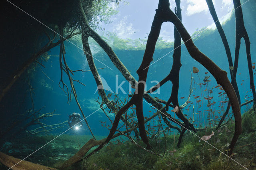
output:
M 251 58 L 252 58 L 252 65 L 254 65 L 253 73 L 254 73 L 254 84 L 255 84 L 255 62 L 256 62 L 256 37 L 255 37 L 255 30 L 256 30 L 256 23 L 255 20 L 252 20 L 252 16 L 254 16 L 255 11 L 250 10 L 250 6 L 244 6 L 244 18 L 245 19 L 245 27 L 247 28 L 248 36 L 250 38 L 250 49 L 251 49 Z M 232 14 L 230 20 L 226 21 L 226 23 L 222 26 L 226 37 L 228 39 L 228 43 L 230 45 L 230 50 L 232 54 L 232 59 L 234 62 L 234 49 L 235 49 L 235 17 L 234 13 Z M 108 33 L 113 34 L 114 33 Z M 42 37 L 38 36 L 38 40 Z M 104 37 L 104 39 L 112 45 L 114 52 L 122 61 L 124 66 L 128 69 L 131 75 L 138 80 L 138 74 L 136 73 L 138 67 L 140 66 L 144 54 L 145 43 L 140 44 L 140 47 L 137 47 L 135 42 L 130 42 L 131 47 L 124 46 L 125 44 L 122 42 L 121 39 L 115 37 L 112 39 L 108 36 Z M 202 51 L 205 55 L 207 55 L 212 61 L 214 61 L 221 69 L 228 73 L 228 78 L 230 78 L 229 73 L 229 66 L 228 60 L 226 57 L 225 49 L 222 44 L 221 38 L 217 30 L 204 30 L 203 32 L 199 33 L 198 36 L 193 38 L 195 45 Z M 90 70 L 88 66 L 88 62 L 83 51 L 80 49 L 82 47 L 82 42 L 80 36 L 76 39 L 70 40 L 72 43 L 65 41 L 65 50 L 66 50 L 66 62 L 68 66 L 72 70 Z M 137 40 L 138 41 L 138 40 Z M 144 40 L 145 42 L 146 40 Z M 42 42 L 47 42 L 47 40 L 43 39 Z M 128 95 L 132 95 L 134 93 L 134 89 L 129 88 L 129 83 L 126 79 L 122 76 L 122 74 L 118 71 L 115 65 L 111 62 L 108 55 L 104 53 L 104 51 L 99 47 L 99 45 L 94 42 L 94 40 L 89 39 L 90 46 L 92 49 L 93 56 L 98 59 L 100 62 L 94 60 L 95 65 L 99 69 L 98 73 L 103 81 L 103 85 L 106 90 L 108 90 L 107 94 L 111 94 L 109 97 L 110 100 L 114 101 L 125 101 L 127 103 Z M 134 46 L 134 47 L 132 47 Z M 166 47 L 167 46 L 167 47 Z M 169 47 L 168 47 L 169 46 Z M 4 46 L 3 46 L 4 47 Z M 80 48 L 78 48 L 80 47 Z M 28 47 L 26 47 L 28 48 Z M 7 50 L 3 50 L 6 52 Z M 15 48 L 14 48 L 15 51 Z M 28 52 L 29 51 L 29 52 Z M 21 53 L 21 56 L 25 56 L 26 54 L 31 54 L 31 49 L 28 48 L 24 49 L 24 51 L 14 52 L 16 54 Z M 12 53 L 12 55 L 14 54 Z M 56 46 L 47 53 L 44 54 L 44 59 L 38 59 L 38 64 L 33 62 L 26 71 L 21 75 L 21 77 L 12 85 L 8 93 L 4 96 L 4 98 L 0 101 L 0 114 L 2 119 L 0 119 L 1 123 L 1 137 L 0 137 L 0 148 L 1 152 L 8 154 L 10 156 L 14 156 L 19 159 L 26 158 L 30 153 L 34 152 L 41 146 L 38 152 L 34 153 L 34 156 L 28 158 L 26 160 L 43 164 L 46 166 L 54 166 L 58 167 L 56 162 L 63 162 L 64 160 L 68 160 L 72 155 L 74 155 L 82 146 L 92 138 L 91 132 L 86 126 L 86 123 L 82 119 L 83 126 L 78 130 L 70 129 L 67 122 L 68 115 L 72 113 L 80 113 L 81 111 L 75 101 L 74 94 L 71 95 L 70 98 L 66 95 L 67 90 L 64 88 L 64 91 L 59 87 L 60 81 L 60 61 L 59 61 L 59 53 L 60 53 L 60 46 Z M 4 59 L 4 56 L 8 55 L 6 52 L 1 57 L 1 65 L 2 65 L 2 73 L 1 79 L 3 82 L 6 80 L 11 79 L 12 73 L 15 72 L 15 69 L 20 67 L 24 61 L 26 61 L 26 57 L 23 59 L 19 59 L 19 57 L 14 57 L 11 59 L 7 57 Z M 148 78 L 147 78 L 147 87 L 146 90 L 149 90 L 150 87 L 156 85 L 156 82 L 161 81 L 168 73 L 170 72 L 171 65 L 173 63 L 173 45 L 171 43 L 166 43 L 163 41 L 159 41 L 157 43 L 157 48 L 153 55 L 153 62 L 157 61 L 153 65 L 149 67 L 148 70 Z M 164 56 L 164 57 L 163 57 Z M 159 59 L 159 60 L 158 60 Z M 15 62 L 12 60 L 15 60 Z M 153 63 L 152 62 L 152 63 Z M 11 65 L 8 67 L 6 65 Z M 102 64 L 104 63 L 104 64 Z M 195 61 L 192 57 L 190 57 L 186 47 L 184 45 L 181 46 L 181 63 L 182 67 L 180 68 L 180 79 L 179 79 L 179 92 L 178 92 L 178 100 L 179 104 L 182 105 L 186 103 L 188 99 L 188 95 L 190 93 L 190 86 L 191 86 L 191 96 L 188 101 L 188 104 L 184 109 L 182 109 L 183 114 L 189 119 L 193 124 L 194 127 L 199 129 L 198 135 L 201 137 L 204 133 L 205 135 L 209 135 L 214 127 L 218 125 L 223 113 L 226 110 L 228 104 L 228 98 L 226 97 L 225 92 L 221 89 L 220 86 L 216 83 L 214 77 L 209 73 L 207 69 L 205 69 L 200 63 Z M 108 67 L 106 67 L 108 66 Z M 198 68 L 198 73 L 193 73 L 193 67 Z M 13 69 L 14 71 L 10 71 L 9 69 Z M 90 71 L 86 72 L 73 72 L 72 78 L 74 80 L 79 80 L 84 85 L 75 82 L 74 86 L 77 93 L 77 99 L 80 103 L 80 106 L 84 112 L 86 120 L 88 121 L 88 125 L 90 126 L 93 134 L 96 136 L 96 139 L 102 139 L 108 136 L 109 130 L 111 128 L 111 121 L 114 120 L 115 114 L 110 112 L 108 108 L 105 106 L 103 107 L 104 110 L 101 109 L 102 103 L 101 97 L 97 92 L 97 85 L 95 79 Z M 209 76 L 209 77 L 208 77 Z M 118 82 L 117 82 L 118 80 Z M 205 80 L 205 81 L 204 81 Z M 209 81 L 206 81 L 209 80 Z M 240 47 L 240 55 L 239 55 L 239 63 L 238 63 L 238 71 L 236 76 L 236 81 L 238 84 L 238 90 L 240 93 L 241 103 L 245 103 L 253 99 L 252 92 L 250 90 L 250 78 L 248 74 L 248 64 L 246 59 L 246 49 L 244 41 L 241 41 Z M 66 83 L 68 86 L 68 93 L 70 94 L 71 87 L 69 83 L 69 79 L 66 73 L 63 72 L 63 82 Z M 120 85 L 122 82 L 123 91 L 119 88 L 118 91 L 116 87 Z M 1 91 L 4 89 L 1 86 Z M 106 88 L 107 87 L 107 88 Z M 160 87 L 157 94 L 152 94 L 152 97 L 159 98 L 162 100 L 167 101 L 171 94 L 172 83 L 169 81 L 168 83 L 164 84 Z M 130 91 L 131 90 L 131 91 Z M 113 93 L 112 93 L 112 92 Z M 2 93 L 2 92 L 1 92 Z M 115 98 L 114 93 L 117 94 L 118 99 Z M 205 98 L 208 98 L 205 99 Z M 210 100 L 209 100 L 210 98 Z M 69 100 L 68 100 L 69 99 Z M 71 101 L 70 101 L 71 99 Z M 98 100 L 98 101 L 97 101 Z M 98 103 L 99 102 L 99 103 Z M 210 102 L 212 105 L 208 105 Z M 208 106 L 207 106 L 208 105 Z M 120 103 L 119 106 L 123 106 Z M 194 107 L 194 110 L 193 110 Z M 245 106 L 241 107 L 241 113 L 244 114 L 246 111 L 252 108 L 252 103 L 249 103 Z M 171 108 L 170 110 L 172 110 Z M 170 115 L 174 118 L 178 119 L 174 112 L 168 111 Z M 128 115 L 135 114 L 134 108 L 128 109 Z M 106 115 L 105 115 L 105 113 Z M 45 117 L 44 119 L 40 119 L 39 121 L 31 121 L 35 117 L 42 116 L 43 114 L 49 113 L 49 117 Z M 51 115 L 52 113 L 53 115 Z M 143 114 L 144 117 L 150 117 L 157 113 L 157 110 L 150 105 L 143 103 Z M 226 117 L 225 121 L 229 119 L 231 122 L 234 120 L 232 117 L 232 109 L 230 109 L 228 116 Z M 159 119 L 159 121 L 158 121 Z M 137 121 L 136 117 L 130 119 L 132 125 L 136 123 L 133 121 Z M 31 124 L 30 124 L 31 123 Z M 160 127 L 160 125 L 162 127 Z M 175 126 L 178 126 L 175 124 Z M 233 132 L 233 125 L 229 125 L 228 132 Z M 43 127 L 43 128 L 42 128 Z M 118 126 L 120 131 L 126 130 L 124 123 L 120 121 Z M 200 130 L 203 130 L 200 131 Z M 138 128 L 137 128 L 138 130 Z M 147 134 L 150 137 L 150 141 L 158 142 L 162 144 L 164 141 L 165 136 L 171 136 L 172 138 L 176 135 L 176 139 L 178 140 L 179 132 L 178 130 L 174 130 L 172 128 L 168 128 L 168 126 L 164 123 L 164 121 L 159 117 L 152 119 L 150 122 L 146 124 Z M 159 134 L 157 132 L 159 132 Z M 164 131 L 165 133 L 163 133 Z M 157 133 L 154 134 L 154 132 Z M 251 132 L 251 131 L 250 131 Z M 248 134 L 251 134 L 248 132 Z M 215 136 L 217 133 L 215 132 Z M 224 133 L 224 132 L 223 132 Z M 253 131 L 252 131 L 253 133 Z M 255 133 L 255 132 L 254 132 Z M 253 133 L 253 134 L 254 134 Z M 191 135 L 189 132 L 186 134 Z M 221 135 L 221 134 L 220 134 Z M 224 134 L 223 134 L 224 135 Z M 233 133 L 225 134 L 228 139 L 232 138 Z M 135 134 L 132 132 L 130 134 L 134 138 Z M 195 136 L 193 136 L 195 137 Z M 198 147 L 197 141 L 200 139 L 192 138 L 191 136 L 184 139 L 183 146 L 188 147 L 186 142 L 189 142 L 189 139 L 192 138 L 191 141 L 194 143 L 192 144 L 195 147 Z M 222 143 L 224 146 L 230 140 L 226 139 L 226 143 Z M 135 140 L 135 139 L 134 139 Z M 126 144 L 130 146 L 131 143 L 127 143 L 130 141 L 128 138 L 122 136 L 119 137 L 118 140 L 112 140 L 113 143 L 110 146 L 106 146 L 103 154 L 106 154 L 108 150 L 114 150 L 114 146 L 119 146 L 121 144 Z M 139 140 L 136 140 L 142 146 L 143 143 Z M 214 144 L 217 142 L 217 137 L 214 137 Z M 246 140 L 244 140 L 246 141 Z M 213 141 L 209 141 L 212 143 Z M 253 141 L 252 141 L 253 142 Z M 242 144 L 252 144 L 245 142 L 239 143 L 241 146 Z M 170 144 L 170 146 L 176 145 L 176 143 Z M 202 142 L 201 142 L 202 143 Z M 114 146 L 113 146 L 114 145 Z M 252 146 L 252 150 L 255 151 L 255 144 L 250 145 Z M 120 146 L 121 147 L 121 146 Z M 135 147 L 131 145 L 130 147 Z M 157 147 L 157 146 L 155 146 Z M 205 146 L 202 146 L 204 148 Z M 96 148 L 96 147 L 94 147 Z M 210 147 L 211 148 L 211 147 Z M 141 148 L 138 148 L 141 149 Z M 93 149 L 91 149 L 93 150 Z M 107 150 L 107 151 L 106 151 Z M 129 148 L 128 148 L 129 150 Z M 177 149 L 178 150 L 178 149 Z M 49 154 L 49 151 L 52 152 Z M 162 151 L 162 150 L 161 150 Z M 170 151 L 170 150 L 169 150 Z M 168 151 L 168 152 L 169 152 Z M 65 152 L 65 153 L 64 153 Z M 164 151 L 165 152 L 165 151 Z M 175 151 L 176 152 L 176 151 Z M 182 151 L 180 151 L 182 152 Z M 223 151 L 224 152 L 224 151 Z M 134 153 L 134 151 L 133 151 Z M 127 153 L 125 153 L 127 154 Z M 172 152 L 169 153 L 173 155 Z M 42 157 L 40 157 L 40 155 Z M 242 154 L 240 154 L 242 155 Z M 113 156 L 113 155 L 111 155 Z M 124 155 L 125 156 L 125 155 Z M 246 157 L 246 155 L 242 155 Z M 117 158 L 116 156 L 115 158 Z M 199 159 L 200 157 L 198 157 Z M 113 158 L 114 159 L 114 158 Z M 255 156 L 251 158 L 252 162 L 255 163 Z M 55 162 L 54 162 L 55 161 Z M 121 160 L 120 160 L 121 161 Z M 93 162 L 93 161 L 91 161 Z M 100 161 L 99 161 L 100 162 Z M 2 162 L 2 164 L 4 164 Z M 4 165 L 0 165 L 0 168 L 6 169 L 7 167 Z M 94 165 L 95 164 L 95 165 Z M 106 164 L 104 166 L 99 166 L 100 163 L 97 160 L 94 160 L 94 163 L 91 166 L 86 166 L 88 169 L 100 169 L 109 167 Z M 139 164 L 139 163 L 138 163 Z M 250 168 L 254 167 L 253 164 L 246 165 L 250 166 Z M 121 166 L 120 166 L 121 167 Z M 119 167 L 119 168 L 120 168 Z M 195 168 L 196 166 L 194 166 Z M 113 167 L 112 167 L 113 168 Z M 114 169 L 119 169 L 118 166 Z M 138 167 L 137 167 L 138 168 Z M 152 168 L 152 167 L 151 167 Z M 7 168 L 8 169 L 8 168 Z M 86 168 L 85 168 L 86 169 Z M 110 168 L 111 169 L 111 168 Z M 157 169 L 156 166 L 152 169 Z M 192 168 L 193 169 L 193 168 Z

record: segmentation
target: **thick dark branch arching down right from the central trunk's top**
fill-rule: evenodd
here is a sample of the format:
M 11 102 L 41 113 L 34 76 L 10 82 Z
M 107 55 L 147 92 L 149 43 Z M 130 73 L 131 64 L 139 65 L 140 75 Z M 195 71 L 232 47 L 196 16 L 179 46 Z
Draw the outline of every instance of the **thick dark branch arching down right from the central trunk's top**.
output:
M 218 65 L 216 65 L 210 58 L 208 58 L 204 53 L 202 53 L 196 47 L 196 45 L 192 41 L 191 36 L 186 31 L 186 28 L 183 26 L 182 22 L 170 10 L 169 8 L 170 3 L 167 0 L 160 0 L 159 3 L 163 3 L 164 4 L 163 6 L 166 6 L 166 8 L 162 9 L 159 15 L 166 22 L 172 22 L 174 24 L 174 26 L 180 33 L 180 36 L 183 42 L 185 43 L 185 46 L 190 56 L 194 58 L 196 61 L 198 61 L 200 64 L 202 64 L 214 76 L 217 83 L 222 86 L 222 88 L 228 95 L 228 98 L 232 106 L 232 110 L 234 112 L 234 118 L 235 118 L 235 133 L 232 138 L 232 141 L 230 144 L 230 151 L 229 151 L 229 154 L 231 154 L 236 144 L 236 141 L 238 139 L 238 136 L 242 134 L 242 117 L 241 117 L 241 111 L 240 111 L 240 103 L 238 102 L 238 98 L 236 96 L 236 93 L 232 84 L 228 80 L 227 72 L 220 69 Z

